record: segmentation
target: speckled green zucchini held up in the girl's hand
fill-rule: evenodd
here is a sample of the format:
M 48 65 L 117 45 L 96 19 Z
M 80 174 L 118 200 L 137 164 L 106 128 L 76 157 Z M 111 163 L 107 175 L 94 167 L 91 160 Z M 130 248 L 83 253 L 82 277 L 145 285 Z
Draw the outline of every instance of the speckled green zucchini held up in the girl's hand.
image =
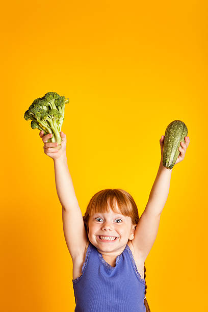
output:
M 188 134 L 186 124 L 181 120 L 172 121 L 166 128 L 163 145 L 163 166 L 172 169 L 178 158 L 180 142 L 185 143 Z

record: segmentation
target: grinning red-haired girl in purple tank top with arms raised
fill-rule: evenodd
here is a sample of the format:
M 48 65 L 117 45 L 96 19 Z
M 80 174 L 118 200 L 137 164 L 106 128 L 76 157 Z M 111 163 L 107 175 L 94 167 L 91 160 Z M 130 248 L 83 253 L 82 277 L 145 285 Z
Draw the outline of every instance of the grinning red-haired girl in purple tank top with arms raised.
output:
M 163 166 L 164 136 L 160 139 L 161 161 L 149 199 L 139 218 L 133 197 L 121 189 L 96 193 L 87 211 L 77 202 L 66 159 L 66 135 L 58 143 L 40 137 L 44 152 L 54 160 L 56 189 L 62 205 L 63 229 L 73 262 L 76 312 L 147 312 L 145 259 L 157 237 L 160 216 L 168 197 L 172 169 Z M 180 142 L 181 162 L 189 145 Z

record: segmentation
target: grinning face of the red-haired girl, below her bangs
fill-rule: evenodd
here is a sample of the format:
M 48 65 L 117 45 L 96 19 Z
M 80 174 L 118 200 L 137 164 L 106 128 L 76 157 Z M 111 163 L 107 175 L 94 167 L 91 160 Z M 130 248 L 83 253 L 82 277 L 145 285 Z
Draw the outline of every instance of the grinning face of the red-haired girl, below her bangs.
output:
M 119 211 L 114 213 L 96 213 L 89 217 L 89 241 L 98 251 L 123 251 L 128 240 L 133 240 L 136 224 L 131 217 L 123 216 Z M 113 241 L 101 240 L 103 237 L 114 237 Z

